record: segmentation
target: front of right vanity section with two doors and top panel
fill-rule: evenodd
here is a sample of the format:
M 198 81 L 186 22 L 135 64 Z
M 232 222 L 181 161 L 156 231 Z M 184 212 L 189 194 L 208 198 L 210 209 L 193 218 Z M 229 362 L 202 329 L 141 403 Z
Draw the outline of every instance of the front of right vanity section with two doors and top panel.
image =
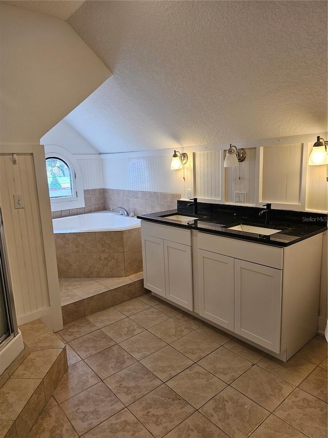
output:
M 280 353 L 282 252 L 198 233 L 200 316 Z

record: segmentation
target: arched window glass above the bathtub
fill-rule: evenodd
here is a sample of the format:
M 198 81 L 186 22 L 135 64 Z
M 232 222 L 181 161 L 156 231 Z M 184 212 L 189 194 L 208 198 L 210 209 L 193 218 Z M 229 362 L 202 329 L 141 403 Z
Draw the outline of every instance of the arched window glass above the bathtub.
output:
M 46 159 L 50 199 L 73 196 L 72 172 L 67 163 L 56 157 Z

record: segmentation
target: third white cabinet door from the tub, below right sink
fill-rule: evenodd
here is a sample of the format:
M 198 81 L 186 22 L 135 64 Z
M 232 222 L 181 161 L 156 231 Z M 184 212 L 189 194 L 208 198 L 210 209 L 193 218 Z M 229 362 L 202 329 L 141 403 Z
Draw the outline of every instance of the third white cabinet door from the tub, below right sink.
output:
M 199 250 L 199 314 L 234 330 L 234 259 Z

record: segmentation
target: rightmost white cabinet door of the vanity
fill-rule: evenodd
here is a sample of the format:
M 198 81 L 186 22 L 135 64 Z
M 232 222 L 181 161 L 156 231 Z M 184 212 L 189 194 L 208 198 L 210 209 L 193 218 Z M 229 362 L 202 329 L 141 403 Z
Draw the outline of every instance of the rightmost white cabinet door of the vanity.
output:
M 282 271 L 235 259 L 235 332 L 280 353 Z

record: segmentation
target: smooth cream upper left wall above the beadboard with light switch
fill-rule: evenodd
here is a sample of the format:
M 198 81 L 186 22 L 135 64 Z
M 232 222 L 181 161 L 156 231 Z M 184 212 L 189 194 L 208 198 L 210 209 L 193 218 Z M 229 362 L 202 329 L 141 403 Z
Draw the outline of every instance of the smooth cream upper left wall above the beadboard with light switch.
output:
M 111 75 L 68 23 L 0 3 L 1 143 L 40 138 Z

